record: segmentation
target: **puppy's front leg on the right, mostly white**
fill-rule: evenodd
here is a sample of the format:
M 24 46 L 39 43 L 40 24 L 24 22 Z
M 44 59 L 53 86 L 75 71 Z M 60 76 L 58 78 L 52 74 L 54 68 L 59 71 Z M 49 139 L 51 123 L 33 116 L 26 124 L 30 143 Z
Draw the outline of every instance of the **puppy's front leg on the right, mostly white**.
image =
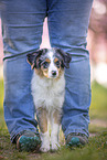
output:
M 51 145 L 52 150 L 57 150 L 60 147 L 58 134 L 60 134 L 60 124 L 61 124 L 61 110 L 54 110 L 51 116 Z

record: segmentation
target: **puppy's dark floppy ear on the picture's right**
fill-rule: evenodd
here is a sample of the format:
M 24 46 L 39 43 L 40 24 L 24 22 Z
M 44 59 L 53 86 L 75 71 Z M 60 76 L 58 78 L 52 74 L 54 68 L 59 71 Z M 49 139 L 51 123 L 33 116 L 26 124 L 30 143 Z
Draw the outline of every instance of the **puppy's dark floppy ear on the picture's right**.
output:
M 69 67 L 69 62 L 72 60 L 71 55 L 66 52 L 64 52 L 63 50 L 61 49 L 55 49 L 56 52 L 58 52 L 61 54 L 61 56 L 63 57 L 63 61 L 62 61 L 62 67 L 66 67 L 68 68 Z

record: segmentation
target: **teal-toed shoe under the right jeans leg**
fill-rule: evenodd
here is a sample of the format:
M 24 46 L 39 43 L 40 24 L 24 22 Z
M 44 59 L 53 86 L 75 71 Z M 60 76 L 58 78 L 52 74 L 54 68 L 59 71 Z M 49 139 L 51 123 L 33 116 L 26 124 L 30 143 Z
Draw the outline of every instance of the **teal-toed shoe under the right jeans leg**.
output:
M 88 138 L 83 134 L 69 134 L 66 138 L 67 147 L 79 147 L 88 143 Z

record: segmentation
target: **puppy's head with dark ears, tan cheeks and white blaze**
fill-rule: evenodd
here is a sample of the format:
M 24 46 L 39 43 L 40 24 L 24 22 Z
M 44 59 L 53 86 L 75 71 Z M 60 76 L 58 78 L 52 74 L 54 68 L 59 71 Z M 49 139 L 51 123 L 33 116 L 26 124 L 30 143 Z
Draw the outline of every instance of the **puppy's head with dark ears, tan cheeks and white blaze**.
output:
M 47 78 L 57 78 L 64 67 L 69 67 L 71 56 L 61 49 L 42 49 L 28 54 L 28 62 L 38 74 Z

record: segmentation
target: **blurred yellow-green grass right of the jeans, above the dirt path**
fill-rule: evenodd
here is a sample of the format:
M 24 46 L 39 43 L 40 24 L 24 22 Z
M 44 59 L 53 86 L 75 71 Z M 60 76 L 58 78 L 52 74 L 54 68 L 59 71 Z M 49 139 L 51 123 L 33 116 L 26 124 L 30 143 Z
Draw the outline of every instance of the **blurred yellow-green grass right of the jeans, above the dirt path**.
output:
M 107 120 L 107 88 L 96 82 L 92 85 L 90 119 Z

